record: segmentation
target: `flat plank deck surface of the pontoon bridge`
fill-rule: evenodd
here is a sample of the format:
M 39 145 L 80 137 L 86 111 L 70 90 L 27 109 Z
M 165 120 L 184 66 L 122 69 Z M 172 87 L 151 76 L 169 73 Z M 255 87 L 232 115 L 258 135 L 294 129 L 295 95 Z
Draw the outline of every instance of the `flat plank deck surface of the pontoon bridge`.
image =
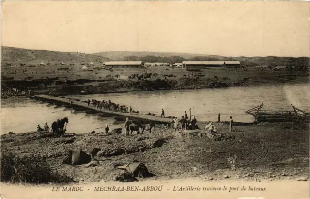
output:
M 51 102 L 51 103 L 63 103 L 66 105 L 70 105 L 70 101 L 69 99 L 64 99 L 64 98 L 59 98 L 59 97 L 53 97 L 53 96 L 48 96 L 48 95 L 35 95 L 35 96 L 30 96 L 31 99 L 37 99 L 37 100 L 41 100 L 41 101 L 47 101 L 47 102 Z M 132 113 L 132 115 L 130 115 L 129 113 L 124 113 L 124 112 L 115 112 L 115 111 L 109 111 L 106 109 L 97 109 L 96 107 L 93 106 L 88 106 L 87 103 L 85 102 L 80 102 L 80 101 L 72 101 L 72 108 L 83 108 L 86 110 L 91 110 L 94 111 L 96 113 L 103 113 L 103 114 L 107 114 L 110 116 L 124 116 L 124 117 L 128 117 L 129 119 L 141 119 L 141 120 L 149 120 L 149 121 L 153 121 L 156 123 L 171 123 L 172 119 L 171 118 L 161 118 L 159 116 L 151 116 L 151 115 L 145 115 L 145 114 L 140 114 L 140 113 Z

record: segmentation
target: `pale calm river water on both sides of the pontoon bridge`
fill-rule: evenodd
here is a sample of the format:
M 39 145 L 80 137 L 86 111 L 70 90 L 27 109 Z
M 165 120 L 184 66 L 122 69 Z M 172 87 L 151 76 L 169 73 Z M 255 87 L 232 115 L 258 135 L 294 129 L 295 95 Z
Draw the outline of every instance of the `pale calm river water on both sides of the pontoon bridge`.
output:
M 113 94 L 96 94 L 71 96 L 74 99 L 111 100 L 121 105 L 131 105 L 140 114 L 148 112 L 160 116 L 161 109 L 166 116 L 182 116 L 184 111 L 195 116 L 198 121 L 217 121 L 218 113 L 222 121 L 228 121 L 229 116 L 234 121 L 252 122 L 253 116 L 246 110 L 265 104 L 265 110 L 292 110 L 290 104 L 309 111 L 309 85 L 233 87 L 219 89 L 200 89 L 184 91 L 154 91 L 130 92 Z M 87 133 L 103 131 L 105 124 L 117 128 L 114 118 L 104 118 L 93 114 L 85 114 L 64 107 L 56 107 L 48 103 L 32 99 L 2 99 L 1 100 L 1 134 L 14 132 L 24 133 L 35 131 L 38 124 L 50 124 L 63 117 L 69 118 L 68 133 Z

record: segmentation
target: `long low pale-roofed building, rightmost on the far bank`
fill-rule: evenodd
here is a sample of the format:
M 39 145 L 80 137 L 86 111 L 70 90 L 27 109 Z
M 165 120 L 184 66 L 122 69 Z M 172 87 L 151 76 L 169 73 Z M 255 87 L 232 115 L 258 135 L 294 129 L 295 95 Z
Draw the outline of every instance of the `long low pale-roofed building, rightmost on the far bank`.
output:
M 240 67 L 239 61 L 183 61 L 185 69 L 203 69 L 207 67 Z

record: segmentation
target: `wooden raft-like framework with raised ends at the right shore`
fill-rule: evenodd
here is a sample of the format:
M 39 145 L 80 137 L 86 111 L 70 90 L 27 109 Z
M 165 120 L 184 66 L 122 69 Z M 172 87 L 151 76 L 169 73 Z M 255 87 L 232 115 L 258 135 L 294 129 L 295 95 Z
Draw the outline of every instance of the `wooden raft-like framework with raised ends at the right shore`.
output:
M 289 111 L 262 110 L 263 104 L 246 111 L 247 114 L 254 116 L 254 122 L 301 122 L 309 123 L 309 112 L 305 112 L 294 107 Z

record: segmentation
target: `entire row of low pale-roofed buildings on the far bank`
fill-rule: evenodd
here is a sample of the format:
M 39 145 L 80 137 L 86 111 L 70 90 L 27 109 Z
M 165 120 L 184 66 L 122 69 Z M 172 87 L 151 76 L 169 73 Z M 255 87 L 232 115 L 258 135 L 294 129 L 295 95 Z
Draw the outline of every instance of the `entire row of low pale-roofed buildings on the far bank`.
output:
M 144 66 L 169 66 L 168 63 L 143 63 L 142 61 L 117 61 L 105 62 L 105 66 L 111 68 L 139 68 Z M 208 67 L 240 67 L 240 61 L 183 61 L 177 62 L 170 67 L 184 69 L 203 69 Z

